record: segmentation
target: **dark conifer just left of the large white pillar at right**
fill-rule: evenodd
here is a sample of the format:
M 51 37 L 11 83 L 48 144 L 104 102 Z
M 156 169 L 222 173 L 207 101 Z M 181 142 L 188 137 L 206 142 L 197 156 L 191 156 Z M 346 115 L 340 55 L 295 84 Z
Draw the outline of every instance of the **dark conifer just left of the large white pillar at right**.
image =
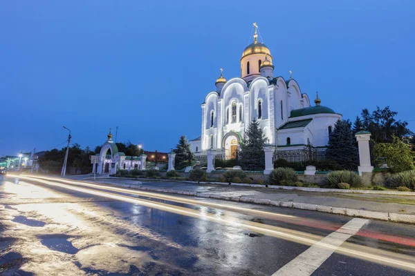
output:
M 358 168 L 358 148 L 351 134 L 349 120 L 338 120 L 329 137 L 326 155 L 336 161 L 340 168 L 356 170 Z

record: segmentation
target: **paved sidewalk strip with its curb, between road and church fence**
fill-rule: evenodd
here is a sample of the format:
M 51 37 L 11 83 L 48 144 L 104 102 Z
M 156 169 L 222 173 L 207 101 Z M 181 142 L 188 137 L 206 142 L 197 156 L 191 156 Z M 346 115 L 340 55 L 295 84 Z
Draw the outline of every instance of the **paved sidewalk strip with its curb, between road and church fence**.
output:
M 85 180 L 91 181 L 91 178 Z M 101 178 L 95 182 L 161 193 L 243 201 L 415 224 L 415 195 L 319 193 L 303 190 L 113 178 Z

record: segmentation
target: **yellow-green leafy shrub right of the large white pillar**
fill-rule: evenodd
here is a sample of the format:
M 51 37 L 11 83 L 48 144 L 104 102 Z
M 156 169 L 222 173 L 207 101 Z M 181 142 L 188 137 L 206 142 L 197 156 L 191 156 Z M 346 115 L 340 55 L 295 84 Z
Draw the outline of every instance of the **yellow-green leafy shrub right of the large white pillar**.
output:
M 398 137 L 393 137 L 392 143 L 378 143 L 374 148 L 375 164 L 387 164 L 391 172 L 414 170 L 414 157 L 409 145 Z

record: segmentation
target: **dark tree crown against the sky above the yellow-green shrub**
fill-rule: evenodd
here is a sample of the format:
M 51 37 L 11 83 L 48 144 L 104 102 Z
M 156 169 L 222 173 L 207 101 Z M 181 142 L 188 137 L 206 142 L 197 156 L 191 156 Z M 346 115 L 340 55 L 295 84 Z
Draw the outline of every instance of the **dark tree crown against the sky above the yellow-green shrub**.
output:
M 383 109 L 377 106 L 372 113 L 365 108 L 361 115 L 363 130 L 371 132 L 371 139 L 375 143 L 392 143 L 394 136 L 401 139 L 412 134 L 407 128 L 407 121 L 396 120 L 398 112 L 390 110 L 389 106 Z

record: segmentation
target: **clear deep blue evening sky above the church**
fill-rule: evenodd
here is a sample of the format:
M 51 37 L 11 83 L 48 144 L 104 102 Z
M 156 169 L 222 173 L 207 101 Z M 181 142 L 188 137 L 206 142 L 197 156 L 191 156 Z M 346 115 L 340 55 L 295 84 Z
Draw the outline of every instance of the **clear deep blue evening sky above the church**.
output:
M 414 14 L 412 0 L 3 1 L 0 156 L 57 146 L 63 125 L 91 148 L 116 126 L 146 150 L 200 136 L 200 104 L 219 68 L 239 77 L 255 21 L 276 76 L 293 70 L 346 119 L 390 106 L 415 130 Z

